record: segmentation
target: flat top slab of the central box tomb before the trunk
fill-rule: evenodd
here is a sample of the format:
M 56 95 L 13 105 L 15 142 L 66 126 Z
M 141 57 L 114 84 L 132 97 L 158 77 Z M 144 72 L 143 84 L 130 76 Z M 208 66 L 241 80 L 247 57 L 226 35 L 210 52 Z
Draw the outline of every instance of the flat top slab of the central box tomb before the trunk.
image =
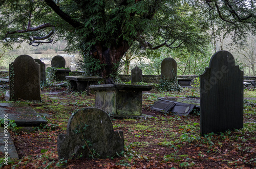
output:
M 91 85 L 91 90 L 140 90 L 150 91 L 152 86 L 145 85 L 125 85 L 125 84 L 103 84 L 103 85 Z

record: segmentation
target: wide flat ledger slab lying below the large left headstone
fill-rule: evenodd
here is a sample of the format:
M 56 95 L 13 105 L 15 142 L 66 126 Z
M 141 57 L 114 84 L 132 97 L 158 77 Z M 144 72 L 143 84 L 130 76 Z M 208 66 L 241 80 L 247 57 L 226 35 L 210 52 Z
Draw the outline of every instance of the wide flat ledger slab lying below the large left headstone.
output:
M 39 126 L 47 123 L 27 104 L 0 103 L 0 118 L 4 118 L 5 114 L 8 114 L 8 122 L 14 120 L 17 126 Z

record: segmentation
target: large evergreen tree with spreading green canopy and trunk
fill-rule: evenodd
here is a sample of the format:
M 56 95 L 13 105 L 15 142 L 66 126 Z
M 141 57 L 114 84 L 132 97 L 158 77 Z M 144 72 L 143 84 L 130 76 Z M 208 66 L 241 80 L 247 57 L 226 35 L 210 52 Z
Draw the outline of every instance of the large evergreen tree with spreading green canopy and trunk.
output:
M 210 28 L 239 39 L 255 33 L 255 1 L 232 0 L 0 0 L 1 43 L 68 42 L 91 70 L 113 83 L 125 52 L 187 47 L 201 51 Z M 218 26 L 218 30 L 216 27 Z

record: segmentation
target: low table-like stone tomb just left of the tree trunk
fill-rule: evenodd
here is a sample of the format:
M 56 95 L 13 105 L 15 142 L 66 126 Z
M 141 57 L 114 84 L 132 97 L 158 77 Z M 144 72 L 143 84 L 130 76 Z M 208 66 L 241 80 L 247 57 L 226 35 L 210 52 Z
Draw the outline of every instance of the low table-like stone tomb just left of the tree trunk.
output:
M 102 80 L 101 77 L 96 76 L 66 76 L 71 83 L 71 87 L 75 91 L 84 91 L 86 90 L 90 93 L 89 86 L 92 84 L 97 84 L 98 81 Z

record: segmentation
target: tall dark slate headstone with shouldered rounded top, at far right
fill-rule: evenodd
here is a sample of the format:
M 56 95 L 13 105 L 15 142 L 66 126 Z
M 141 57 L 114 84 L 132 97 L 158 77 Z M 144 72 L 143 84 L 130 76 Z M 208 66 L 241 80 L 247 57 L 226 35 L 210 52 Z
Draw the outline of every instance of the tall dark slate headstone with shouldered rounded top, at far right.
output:
M 219 51 L 200 75 L 201 135 L 243 128 L 243 71 Z

